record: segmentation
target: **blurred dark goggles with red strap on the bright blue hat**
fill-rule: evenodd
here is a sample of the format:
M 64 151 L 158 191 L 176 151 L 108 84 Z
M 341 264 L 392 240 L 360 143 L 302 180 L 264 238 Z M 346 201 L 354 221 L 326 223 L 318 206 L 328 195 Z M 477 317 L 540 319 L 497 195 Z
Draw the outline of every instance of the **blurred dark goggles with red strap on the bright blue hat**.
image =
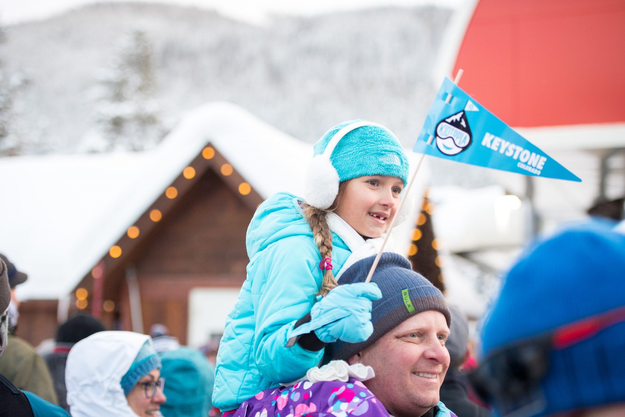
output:
M 540 384 L 549 370 L 549 355 L 589 339 L 614 324 L 625 321 L 625 307 L 516 342 L 489 354 L 468 374 L 476 395 L 494 405 L 502 416 L 542 411 L 545 399 Z

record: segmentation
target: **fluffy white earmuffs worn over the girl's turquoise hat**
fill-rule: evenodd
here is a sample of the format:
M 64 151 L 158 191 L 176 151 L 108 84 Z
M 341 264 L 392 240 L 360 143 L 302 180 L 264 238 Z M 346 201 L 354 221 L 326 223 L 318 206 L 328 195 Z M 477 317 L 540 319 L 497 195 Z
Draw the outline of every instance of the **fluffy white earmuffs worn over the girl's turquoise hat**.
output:
M 379 126 L 386 130 L 384 126 L 380 126 L 377 123 L 357 121 L 334 133 L 330 142 L 327 143 L 324 152 L 315 155 L 310 165 L 308 165 L 308 170 L 306 172 L 306 194 L 304 195 L 306 203 L 321 210 L 327 210 L 332 205 L 336 195 L 339 193 L 340 178 L 339 173 L 336 172 L 336 168 L 334 168 L 332 162 L 330 162 L 330 156 L 343 136 L 362 126 Z

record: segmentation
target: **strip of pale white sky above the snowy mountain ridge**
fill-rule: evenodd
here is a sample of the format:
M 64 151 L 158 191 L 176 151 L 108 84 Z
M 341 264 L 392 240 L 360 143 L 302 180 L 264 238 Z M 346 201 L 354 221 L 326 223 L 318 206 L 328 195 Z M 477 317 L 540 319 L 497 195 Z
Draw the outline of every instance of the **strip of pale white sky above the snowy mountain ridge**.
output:
M 111 0 L 127 1 L 127 0 Z M 312 14 L 378 6 L 437 4 L 456 8 L 466 0 L 136 0 L 144 3 L 174 3 L 216 9 L 222 14 L 251 23 L 262 23 L 267 14 Z M 0 0 L 0 24 L 45 19 L 99 0 Z

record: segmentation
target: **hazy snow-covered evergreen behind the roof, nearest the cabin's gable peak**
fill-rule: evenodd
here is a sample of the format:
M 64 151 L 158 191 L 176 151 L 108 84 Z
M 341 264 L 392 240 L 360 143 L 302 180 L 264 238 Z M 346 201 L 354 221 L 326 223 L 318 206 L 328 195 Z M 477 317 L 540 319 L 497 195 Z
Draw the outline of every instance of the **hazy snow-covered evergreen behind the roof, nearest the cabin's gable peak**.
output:
M 89 151 L 146 150 L 163 138 L 155 99 L 154 53 L 142 29 L 134 29 L 99 76 L 96 131 L 81 148 Z

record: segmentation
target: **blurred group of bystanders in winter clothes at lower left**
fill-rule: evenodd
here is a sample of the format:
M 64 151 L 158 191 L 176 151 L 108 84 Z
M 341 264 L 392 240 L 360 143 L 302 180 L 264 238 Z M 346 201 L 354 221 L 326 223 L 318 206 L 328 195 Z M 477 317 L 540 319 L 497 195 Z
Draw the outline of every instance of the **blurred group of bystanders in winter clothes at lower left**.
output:
M 220 415 L 211 403 L 213 344 L 181 346 L 163 324 L 150 336 L 108 331 L 77 314 L 58 327 L 51 346 L 35 349 L 15 335 L 15 287 L 27 275 L 0 259 L 0 416 Z

